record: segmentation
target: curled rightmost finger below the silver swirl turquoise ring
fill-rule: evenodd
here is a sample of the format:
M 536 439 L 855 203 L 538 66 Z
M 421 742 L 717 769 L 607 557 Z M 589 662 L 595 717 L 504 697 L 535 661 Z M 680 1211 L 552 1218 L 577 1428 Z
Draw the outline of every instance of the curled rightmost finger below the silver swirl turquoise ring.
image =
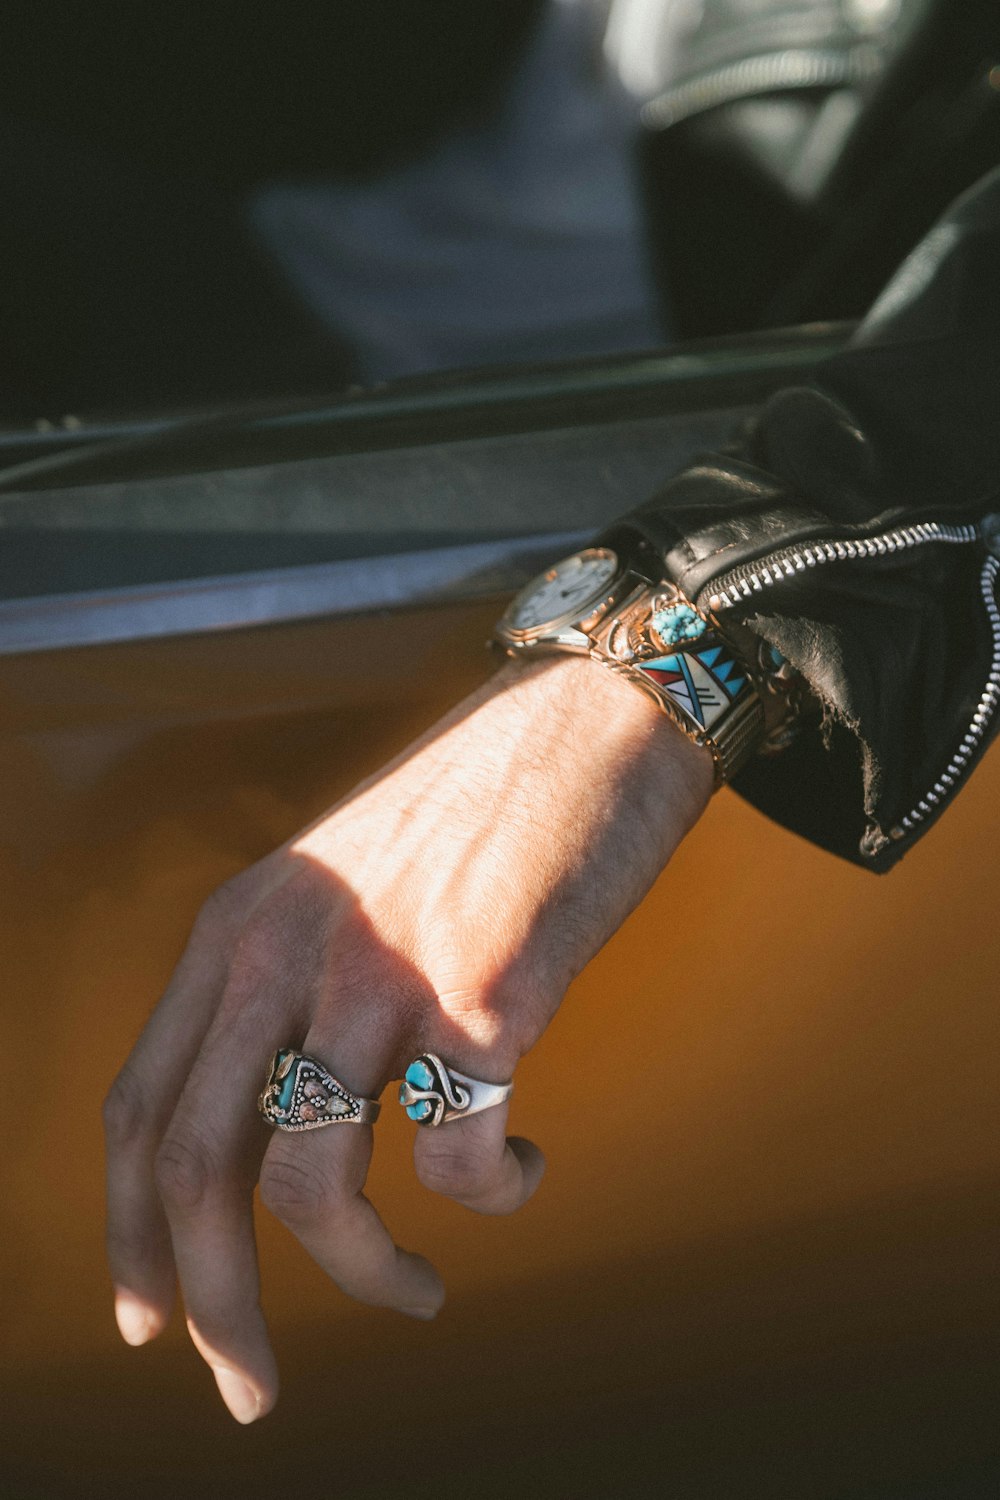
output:
M 432 1192 L 444 1192 L 477 1214 L 513 1214 L 532 1196 L 546 1170 L 535 1144 L 505 1138 L 508 1104 L 435 1128 L 417 1126 L 414 1164 Z

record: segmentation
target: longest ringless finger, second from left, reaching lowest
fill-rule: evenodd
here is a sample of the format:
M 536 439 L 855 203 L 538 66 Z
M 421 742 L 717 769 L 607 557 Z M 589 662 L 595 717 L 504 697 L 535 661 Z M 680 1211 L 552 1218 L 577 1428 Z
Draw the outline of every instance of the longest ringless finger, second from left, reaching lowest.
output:
M 253 1188 L 267 1146 L 256 1098 L 267 1059 L 301 1026 L 291 998 L 237 969 L 156 1155 L 187 1328 L 238 1422 L 277 1400 L 259 1300 Z M 277 1035 L 280 1032 L 280 1035 Z

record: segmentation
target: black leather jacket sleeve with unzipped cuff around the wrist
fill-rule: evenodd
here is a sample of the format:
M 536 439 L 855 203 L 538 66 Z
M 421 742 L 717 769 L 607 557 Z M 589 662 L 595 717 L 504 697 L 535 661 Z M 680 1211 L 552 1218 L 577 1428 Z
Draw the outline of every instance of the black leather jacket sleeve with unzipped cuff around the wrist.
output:
M 997 512 L 1000 171 L 918 246 L 847 351 L 603 540 L 654 548 L 688 597 L 721 598 L 720 620 L 802 672 L 820 726 L 736 788 L 883 872 L 996 734 Z

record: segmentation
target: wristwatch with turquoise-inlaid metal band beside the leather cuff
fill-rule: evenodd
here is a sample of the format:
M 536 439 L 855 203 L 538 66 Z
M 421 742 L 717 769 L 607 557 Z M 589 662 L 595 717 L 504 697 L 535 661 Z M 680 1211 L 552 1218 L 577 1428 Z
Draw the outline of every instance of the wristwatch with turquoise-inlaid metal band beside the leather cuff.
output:
M 717 620 L 675 584 L 643 576 L 606 546 L 585 548 L 532 579 L 496 626 L 511 657 L 568 651 L 648 693 L 729 782 L 759 748 L 787 738 L 789 664 L 763 640 L 738 656 Z M 765 716 L 765 698 L 783 710 Z

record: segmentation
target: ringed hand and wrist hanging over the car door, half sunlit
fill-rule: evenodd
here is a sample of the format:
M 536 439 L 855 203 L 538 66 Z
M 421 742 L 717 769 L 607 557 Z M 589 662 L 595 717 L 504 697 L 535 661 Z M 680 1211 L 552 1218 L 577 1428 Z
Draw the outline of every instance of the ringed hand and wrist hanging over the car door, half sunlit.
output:
M 232 1414 L 274 1404 L 252 1200 L 351 1296 L 433 1317 L 444 1288 L 364 1197 L 372 1130 L 271 1132 L 271 1053 L 376 1096 L 421 1052 L 507 1082 L 568 982 L 708 801 L 708 752 L 585 658 L 508 666 L 379 776 L 202 908 L 105 1104 L 123 1338 L 187 1326 Z M 391 1106 L 390 1106 L 391 1107 Z M 510 1214 L 543 1158 L 507 1106 L 415 1130 L 421 1182 Z

